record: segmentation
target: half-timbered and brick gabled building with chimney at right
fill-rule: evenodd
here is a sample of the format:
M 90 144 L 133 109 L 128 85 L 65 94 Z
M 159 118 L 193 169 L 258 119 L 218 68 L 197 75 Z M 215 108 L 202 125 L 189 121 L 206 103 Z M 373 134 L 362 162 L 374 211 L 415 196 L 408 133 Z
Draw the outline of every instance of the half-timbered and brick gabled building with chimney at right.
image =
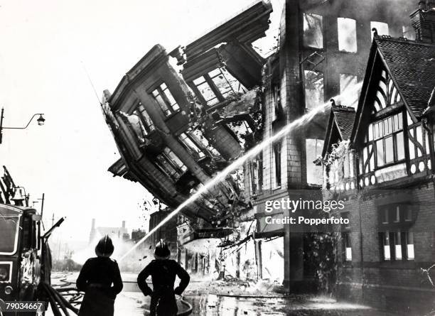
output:
M 323 151 L 325 193 L 350 219 L 338 229 L 338 294 L 412 315 L 432 309 L 434 291 L 433 7 L 411 13 L 415 40 L 375 30 L 350 137 L 329 124 Z

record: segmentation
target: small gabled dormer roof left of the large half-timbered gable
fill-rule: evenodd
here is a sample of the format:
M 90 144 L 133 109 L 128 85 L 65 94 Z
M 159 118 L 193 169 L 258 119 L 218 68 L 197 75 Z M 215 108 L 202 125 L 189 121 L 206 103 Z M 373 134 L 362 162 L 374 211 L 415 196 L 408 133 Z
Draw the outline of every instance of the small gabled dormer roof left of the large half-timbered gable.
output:
M 328 148 L 337 141 L 348 141 L 355 122 L 355 109 L 353 107 L 332 106 L 329 114 L 328 126 L 326 127 L 325 142 L 323 143 L 322 156 L 325 156 Z M 338 139 L 333 139 L 333 131 Z

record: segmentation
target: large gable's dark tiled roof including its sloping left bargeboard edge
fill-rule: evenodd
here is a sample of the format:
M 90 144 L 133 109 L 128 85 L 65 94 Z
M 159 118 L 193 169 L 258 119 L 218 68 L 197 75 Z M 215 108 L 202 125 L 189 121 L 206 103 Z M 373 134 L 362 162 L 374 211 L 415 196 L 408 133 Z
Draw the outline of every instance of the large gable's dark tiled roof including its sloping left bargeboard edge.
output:
M 375 36 L 370 48 L 370 56 L 361 89 L 358 109 L 355 116 L 355 126 L 350 139 L 355 142 L 358 135 L 363 114 L 371 111 L 364 110 L 367 92 L 372 75 L 380 71 L 375 67 L 377 58 L 382 60 L 385 69 L 392 77 L 402 100 L 414 116 L 419 119 L 435 87 L 435 45 L 421 43 L 406 38 L 392 38 L 390 36 Z

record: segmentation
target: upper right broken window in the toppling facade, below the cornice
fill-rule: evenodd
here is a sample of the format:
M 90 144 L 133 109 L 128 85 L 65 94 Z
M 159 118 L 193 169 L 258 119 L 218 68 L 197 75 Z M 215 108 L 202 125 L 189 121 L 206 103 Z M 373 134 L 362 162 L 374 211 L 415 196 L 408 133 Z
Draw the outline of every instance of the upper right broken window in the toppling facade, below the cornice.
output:
M 247 89 L 223 67 L 193 80 L 193 84 L 209 106 L 222 102 L 227 97 L 247 92 Z

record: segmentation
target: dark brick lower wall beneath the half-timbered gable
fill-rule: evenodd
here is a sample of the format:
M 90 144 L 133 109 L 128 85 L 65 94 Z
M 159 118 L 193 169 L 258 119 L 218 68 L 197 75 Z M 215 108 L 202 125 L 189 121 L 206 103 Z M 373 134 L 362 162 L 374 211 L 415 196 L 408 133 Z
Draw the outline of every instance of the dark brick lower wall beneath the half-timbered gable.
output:
M 392 190 L 391 190 L 392 191 Z M 390 191 L 390 192 L 391 192 Z M 417 218 L 409 231 L 414 232 L 414 260 L 383 261 L 379 240 L 378 206 L 382 195 L 363 198 L 361 192 L 345 201 L 349 212 L 352 257 L 343 262 L 342 242 L 338 241 L 338 296 L 392 310 L 427 310 L 434 304 L 435 287 L 421 272 L 435 263 L 433 212 L 434 185 L 420 183 L 412 187 L 409 197 L 417 205 Z M 394 196 L 399 199 L 400 191 Z M 361 222 L 361 226 L 360 226 Z M 361 249 L 362 245 L 362 249 Z M 363 259 L 361 258 L 363 256 Z M 434 274 L 434 273 L 432 273 Z M 412 314 L 418 315 L 418 314 Z

